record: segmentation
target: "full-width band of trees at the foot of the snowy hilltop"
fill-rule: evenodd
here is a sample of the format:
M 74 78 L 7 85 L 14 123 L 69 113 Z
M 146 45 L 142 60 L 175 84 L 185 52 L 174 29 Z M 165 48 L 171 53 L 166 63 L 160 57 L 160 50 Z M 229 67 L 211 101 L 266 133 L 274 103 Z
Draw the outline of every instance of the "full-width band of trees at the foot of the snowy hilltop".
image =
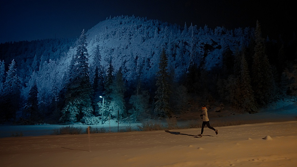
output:
M 70 61 L 59 66 L 57 61 L 69 50 L 73 52 Z M 32 53 L 35 57 L 28 57 Z M 137 122 L 176 117 L 194 104 L 222 103 L 255 113 L 297 93 L 295 36 L 286 42 L 281 36 L 264 39 L 259 22 L 246 47 L 236 51 L 224 47 L 222 66 L 208 70 L 203 62 L 192 61 L 178 80 L 173 79 L 165 48 L 160 48 L 157 73 L 149 79 L 143 78 L 147 66 L 139 66 L 136 75 L 127 79 L 126 67 L 115 70 L 112 58 L 108 68 L 102 66 L 99 46 L 93 54 L 89 64 L 84 30 L 76 42 L 49 39 L 0 44 L 1 123 L 19 117 L 31 123 Z M 66 68 L 62 78 L 57 77 L 60 68 Z

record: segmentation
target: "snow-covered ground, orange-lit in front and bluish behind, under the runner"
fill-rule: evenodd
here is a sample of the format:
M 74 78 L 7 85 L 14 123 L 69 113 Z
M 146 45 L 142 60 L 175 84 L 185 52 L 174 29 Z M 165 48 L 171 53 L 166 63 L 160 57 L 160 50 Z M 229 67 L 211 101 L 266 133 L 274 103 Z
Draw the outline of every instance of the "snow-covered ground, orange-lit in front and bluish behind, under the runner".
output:
M 210 111 L 209 115 L 212 114 Z M 223 120 L 261 123 L 214 127 L 218 135 L 206 127 L 202 138 L 197 136 L 200 128 L 49 135 L 52 129 L 62 125 L 1 125 L 0 164 L 5 167 L 297 166 L 297 112 L 293 103 L 271 105 L 257 114 L 233 115 L 228 111 L 221 114 L 224 117 L 210 117 L 210 123 Z M 109 129 L 109 122 L 104 127 Z M 110 129 L 117 131 L 117 125 L 111 123 Z M 24 136 L 5 137 L 15 132 Z

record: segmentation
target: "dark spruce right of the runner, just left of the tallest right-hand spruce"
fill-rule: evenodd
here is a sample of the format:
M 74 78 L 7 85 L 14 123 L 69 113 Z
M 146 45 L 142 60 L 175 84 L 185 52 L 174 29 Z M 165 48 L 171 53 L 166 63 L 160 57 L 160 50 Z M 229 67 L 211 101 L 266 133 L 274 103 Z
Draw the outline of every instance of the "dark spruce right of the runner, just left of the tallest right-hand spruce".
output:
M 257 112 L 256 102 L 254 98 L 254 92 L 251 86 L 251 79 L 249 77 L 249 67 L 245 59 L 245 55 L 241 56 L 241 69 L 239 78 L 239 92 L 238 92 L 238 105 L 244 112 L 250 114 Z

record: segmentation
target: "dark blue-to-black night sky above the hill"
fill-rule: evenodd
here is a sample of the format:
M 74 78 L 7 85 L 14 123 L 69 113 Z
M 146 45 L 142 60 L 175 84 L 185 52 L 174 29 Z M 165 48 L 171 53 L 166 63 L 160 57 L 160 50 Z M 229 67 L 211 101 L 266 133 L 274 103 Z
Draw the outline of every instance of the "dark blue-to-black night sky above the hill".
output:
M 268 3 L 267 3 L 268 2 Z M 186 22 L 214 29 L 255 27 L 259 20 L 263 37 L 296 32 L 293 2 L 271 0 L 1 0 L 0 43 L 48 38 L 76 38 L 110 16 L 147 17 Z M 287 35 L 286 34 L 286 35 Z

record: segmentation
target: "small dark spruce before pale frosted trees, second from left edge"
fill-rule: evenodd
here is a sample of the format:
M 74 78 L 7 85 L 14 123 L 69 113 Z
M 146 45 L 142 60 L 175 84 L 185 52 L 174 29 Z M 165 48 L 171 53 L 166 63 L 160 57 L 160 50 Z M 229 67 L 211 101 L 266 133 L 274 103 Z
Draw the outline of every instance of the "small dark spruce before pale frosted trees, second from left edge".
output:
M 34 122 L 37 122 L 40 119 L 37 95 L 37 83 L 34 82 L 34 85 L 30 88 L 29 97 L 25 108 L 25 113 L 28 114 L 30 116 L 30 120 Z

